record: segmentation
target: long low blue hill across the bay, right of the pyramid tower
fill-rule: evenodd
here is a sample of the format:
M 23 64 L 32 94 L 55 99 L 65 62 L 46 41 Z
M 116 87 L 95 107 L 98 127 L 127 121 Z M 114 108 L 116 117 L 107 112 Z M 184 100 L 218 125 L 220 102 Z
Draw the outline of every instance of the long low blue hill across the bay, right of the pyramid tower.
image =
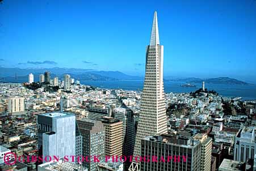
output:
M 200 79 L 200 78 L 177 78 L 169 79 L 173 82 L 187 82 L 187 83 L 209 83 L 209 84 L 238 84 L 238 85 L 249 85 L 249 83 L 242 82 L 237 79 L 229 77 L 219 77 L 219 78 L 209 78 L 209 79 Z

